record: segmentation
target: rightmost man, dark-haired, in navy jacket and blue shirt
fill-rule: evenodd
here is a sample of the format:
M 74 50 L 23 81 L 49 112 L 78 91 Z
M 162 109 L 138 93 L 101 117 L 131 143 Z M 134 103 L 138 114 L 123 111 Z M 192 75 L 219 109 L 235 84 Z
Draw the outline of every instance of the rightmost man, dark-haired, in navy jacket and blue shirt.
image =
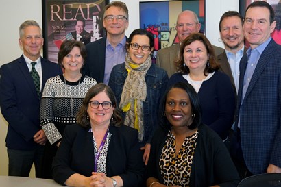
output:
M 281 173 L 281 46 L 271 38 L 275 27 L 267 2 L 247 7 L 243 29 L 250 47 L 240 63 L 237 143 L 232 149 L 245 163 L 245 177 Z

